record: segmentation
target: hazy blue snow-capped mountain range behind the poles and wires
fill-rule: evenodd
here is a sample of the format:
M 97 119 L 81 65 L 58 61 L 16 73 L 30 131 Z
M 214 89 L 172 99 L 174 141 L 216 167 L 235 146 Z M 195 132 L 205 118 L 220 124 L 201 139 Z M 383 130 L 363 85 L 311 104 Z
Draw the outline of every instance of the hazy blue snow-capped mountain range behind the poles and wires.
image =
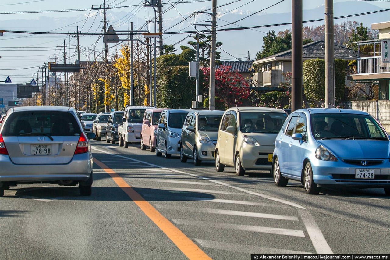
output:
M 205 7 L 207 8 L 207 7 Z M 371 12 L 371 11 L 378 11 L 381 10 L 376 5 L 372 5 L 370 3 L 364 2 L 364 1 L 347 1 L 347 2 L 339 2 L 334 4 L 334 16 L 344 16 L 344 15 L 351 15 L 351 14 L 359 14 L 362 12 Z M 289 23 L 291 22 L 291 12 L 289 13 L 281 13 L 281 14 L 272 14 L 267 12 L 261 12 L 259 14 L 255 14 L 249 18 L 246 18 L 245 20 L 239 21 L 236 24 L 233 25 L 226 25 L 228 23 L 240 20 L 244 18 L 245 16 L 248 16 L 252 13 L 252 11 L 243 11 L 243 10 L 236 10 L 232 12 L 227 12 L 226 9 L 218 9 L 218 27 L 219 28 L 233 28 L 233 27 L 248 27 L 248 26 L 256 26 L 256 25 L 272 25 L 277 23 Z M 225 13 L 227 12 L 227 13 Z M 225 13 L 225 14 L 223 14 Z M 222 15 L 221 15 L 222 14 Z M 189 14 L 183 14 L 184 16 L 188 16 Z M 112 10 L 109 10 L 107 12 L 107 20 L 109 20 L 108 25 L 113 25 L 115 30 L 128 30 L 129 28 L 129 22 L 133 21 L 134 28 L 138 27 L 138 23 L 141 25 L 144 23 L 144 18 L 138 18 L 137 16 L 133 16 L 130 20 L 128 20 L 133 14 L 129 14 L 128 12 L 115 12 Z M 36 19 L 20 19 L 20 20 L 3 20 L 1 21 L 1 28 L 5 30 L 28 30 L 28 31 L 49 31 L 54 30 L 55 28 L 61 28 L 65 27 L 67 25 L 72 25 L 71 28 L 73 28 L 72 31 L 76 31 L 76 26 L 79 25 L 79 29 L 81 32 L 101 32 L 101 17 L 96 17 L 95 23 L 92 26 L 92 22 L 94 21 L 93 18 L 89 18 L 85 25 L 84 19 L 86 18 L 85 14 L 77 15 L 70 18 L 50 18 L 48 16 L 39 16 Z M 305 20 L 314 20 L 314 19 L 321 19 L 324 18 L 324 6 L 317 7 L 315 9 L 310 10 L 304 10 L 303 11 L 303 21 Z M 197 16 L 197 23 L 206 23 L 202 22 L 203 20 L 210 20 L 210 16 L 207 14 L 199 14 Z M 128 21 L 126 21 L 128 20 Z M 182 21 L 182 16 L 177 16 L 175 18 L 167 18 L 164 19 L 163 17 L 163 30 L 168 30 L 168 32 L 179 32 L 181 30 L 183 31 L 194 31 L 194 27 L 192 23 L 194 22 L 193 17 L 188 21 Z M 378 23 L 383 21 L 389 20 L 389 11 L 386 12 L 379 12 L 376 14 L 369 14 L 369 15 L 363 15 L 363 16 L 355 16 L 351 18 L 344 18 L 344 19 L 336 19 L 335 23 L 342 23 L 344 21 L 358 21 L 362 22 L 363 25 L 371 27 L 371 23 Z M 75 23 L 76 21 L 80 21 L 78 23 Z M 319 21 L 316 23 L 304 23 L 304 25 L 321 25 L 324 24 L 323 21 Z M 99 26 L 98 26 L 99 25 Z M 154 30 L 154 24 L 151 23 L 151 30 Z M 34 28 L 34 29 L 32 29 Z M 205 26 L 197 26 L 197 29 L 204 30 Z M 209 28 L 209 27 L 208 27 Z M 234 57 L 239 59 L 246 59 L 248 57 L 248 51 L 250 52 L 250 59 L 254 59 L 255 54 L 261 50 L 262 45 L 262 37 L 269 31 L 269 30 L 275 30 L 275 32 L 278 32 L 280 30 L 290 29 L 291 25 L 285 25 L 285 26 L 276 26 L 276 27 L 264 27 L 264 28 L 256 28 L 256 29 L 250 29 L 250 30 L 235 30 L 235 31 L 222 31 L 218 32 L 217 34 L 217 40 L 221 41 L 223 43 L 222 50 L 221 50 L 221 56 L 222 60 L 234 60 Z M 145 30 L 145 28 L 144 28 Z M 56 32 L 67 32 L 69 31 L 69 27 L 62 28 L 55 30 Z M 186 36 L 188 36 L 190 33 L 186 34 L 164 34 L 164 43 L 167 44 L 174 44 L 177 43 Z M 12 35 L 14 36 L 14 35 Z M 26 36 L 18 35 L 19 36 Z M 58 42 L 55 41 L 55 39 L 58 38 Z M 52 46 L 52 45 L 60 45 L 62 43 L 62 39 L 64 37 L 62 36 L 31 36 L 27 37 L 26 40 L 28 43 L 26 44 L 26 40 L 23 38 L 14 39 L 14 44 L 12 46 L 27 46 L 27 45 L 43 45 L 43 46 Z M 121 38 L 121 37 L 120 37 Z M 67 53 L 68 57 L 74 56 L 74 45 L 75 38 L 69 38 L 66 41 L 66 44 L 72 45 L 73 50 L 69 51 Z M 85 47 L 93 46 L 93 43 L 97 40 L 96 36 L 92 37 L 80 37 L 80 45 L 82 46 L 82 49 Z M 180 51 L 180 45 L 187 45 L 187 41 L 192 41 L 193 39 L 191 37 L 185 38 L 180 43 L 177 43 L 176 49 L 178 52 Z M 102 40 L 99 40 L 99 43 L 97 45 L 97 48 L 99 49 L 99 52 L 102 48 Z M 11 40 L 9 41 L 0 41 L 0 47 L 3 46 L 11 46 Z M 109 46 L 113 46 L 113 44 L 110 44 Z M 58 50 L 58 53 L 61 51 Z M 47 52 L 45 52 L 47 53 Z M 57 53 L 57 54 L 58 54 Z M 9 54 L 9 52 L 7 52 Z M 34 54 L 37 54 L 34 52 Z M 92 54 L 91 54 L 92 55 Z M 234 56 L 234 57 L 233 57 Z M 93 57 L 93 55 L 92 55 Z M 90 57 L 91 58 L 91 57 Z M 70 59 L 71 62 L 73 62 L 75 57 Z M 68 61 L 69 62 L 69 61 Z M 12 64 L 14 65 L 14 64 Z

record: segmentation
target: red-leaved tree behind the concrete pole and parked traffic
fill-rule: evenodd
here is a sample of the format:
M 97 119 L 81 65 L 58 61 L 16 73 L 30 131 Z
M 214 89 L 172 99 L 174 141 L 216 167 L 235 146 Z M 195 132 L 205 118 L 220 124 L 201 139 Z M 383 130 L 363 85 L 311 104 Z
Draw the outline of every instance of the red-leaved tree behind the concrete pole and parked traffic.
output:
M 215 97 L 222 100 L 225 109 L 243 105 L 248 100 L 250 89 L 248 81 L 237 71 L 230 71 L 231 66 L 219 66 L 215 70 Z M 200 68 L 203 71 L 203 89 L 209 93 L 210 68 Z M 208 96 L 208 95 L 207 95 Z

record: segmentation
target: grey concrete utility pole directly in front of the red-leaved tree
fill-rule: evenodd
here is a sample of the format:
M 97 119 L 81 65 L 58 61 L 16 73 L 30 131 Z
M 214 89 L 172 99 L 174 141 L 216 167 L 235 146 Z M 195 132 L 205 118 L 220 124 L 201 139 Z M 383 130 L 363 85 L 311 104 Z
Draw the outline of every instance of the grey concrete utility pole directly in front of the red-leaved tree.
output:
M 210 50 L 210 89 L 209 110 L 215 110 L 215 52 L 216 52 L 216 24 L 217 24 L 217 0 L 213 0 L 211 19 L 211 50 Z

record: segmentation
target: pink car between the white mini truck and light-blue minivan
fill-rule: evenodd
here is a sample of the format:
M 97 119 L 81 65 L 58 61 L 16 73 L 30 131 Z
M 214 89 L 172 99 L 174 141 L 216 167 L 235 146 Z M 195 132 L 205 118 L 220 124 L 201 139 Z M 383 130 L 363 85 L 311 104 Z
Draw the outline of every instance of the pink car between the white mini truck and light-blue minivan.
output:
M 160 120 L 161 112 L 165 109 L 146 109 L 142 121 L 141 130 L 141 149 L 146 150 L 149 147 L 151 152 L 156 150 L 157 125 Z

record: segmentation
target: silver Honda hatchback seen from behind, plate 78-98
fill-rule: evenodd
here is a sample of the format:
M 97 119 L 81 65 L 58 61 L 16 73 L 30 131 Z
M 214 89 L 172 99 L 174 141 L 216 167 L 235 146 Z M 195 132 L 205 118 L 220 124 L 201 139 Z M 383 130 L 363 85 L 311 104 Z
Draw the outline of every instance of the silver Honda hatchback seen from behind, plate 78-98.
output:
M 92 192 L 92 153 L 71 107 L 15 107 L 0 128 L 0 196 L 10 186 L 31 183 L 78 185 Z

